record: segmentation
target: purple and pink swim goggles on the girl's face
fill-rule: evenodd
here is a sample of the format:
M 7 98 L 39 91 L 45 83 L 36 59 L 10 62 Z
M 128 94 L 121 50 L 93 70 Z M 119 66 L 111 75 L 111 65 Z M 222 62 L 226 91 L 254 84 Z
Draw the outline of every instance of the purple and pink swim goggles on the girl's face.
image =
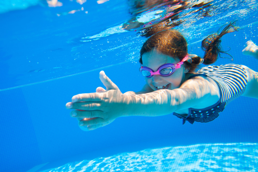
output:
M 179 69 L 181 67 L 181 65 L 183 64 L 183 62 L 186 61 L 187 59 L 188 59 L 188 55 L 186 55 L 183 58 L 183 60 L 181 60 L 177 64 L 173 64 L 173 63 L 163 64 L 158 68 L 158 70 L 156 72 L 154 72 L 154 70 L 152 70 L 151 68 L 148 68 L 145 66 L 141 66 L 141 68 L 139 70 L 143 76 L 148 77 L 148 78 L 152 77 L 153 75 L 169 76 L 172 73 L 174 73 L 176 69 Z

